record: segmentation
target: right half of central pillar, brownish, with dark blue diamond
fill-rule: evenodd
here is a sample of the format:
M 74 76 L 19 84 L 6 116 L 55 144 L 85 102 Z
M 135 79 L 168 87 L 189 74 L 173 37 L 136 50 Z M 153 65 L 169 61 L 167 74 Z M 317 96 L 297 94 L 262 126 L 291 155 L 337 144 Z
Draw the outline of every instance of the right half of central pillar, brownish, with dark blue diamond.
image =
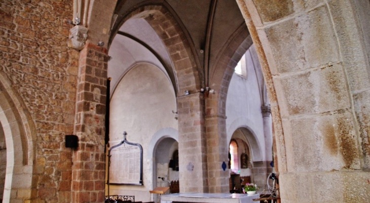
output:
M 229 192 L 228 143 L 225 112 L 218 112 L 219 93 L 206 98 L 208 188 L 211 193 Z M 226 94 L 224 95 L 226 97 Z M 223 162 L 226 169 L 223 170 Z

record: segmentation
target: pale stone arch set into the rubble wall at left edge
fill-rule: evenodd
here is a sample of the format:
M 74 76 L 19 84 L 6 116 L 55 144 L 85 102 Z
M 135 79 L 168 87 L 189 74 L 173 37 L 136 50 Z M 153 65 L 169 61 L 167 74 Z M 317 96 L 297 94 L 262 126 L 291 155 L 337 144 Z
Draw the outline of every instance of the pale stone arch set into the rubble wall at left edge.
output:
M 7 146 L 4 202 L 34 197 L 34 125 L 10 82 L 0 74 L 0 125 Z M 22 192 L 23 195 L 17 195 Z

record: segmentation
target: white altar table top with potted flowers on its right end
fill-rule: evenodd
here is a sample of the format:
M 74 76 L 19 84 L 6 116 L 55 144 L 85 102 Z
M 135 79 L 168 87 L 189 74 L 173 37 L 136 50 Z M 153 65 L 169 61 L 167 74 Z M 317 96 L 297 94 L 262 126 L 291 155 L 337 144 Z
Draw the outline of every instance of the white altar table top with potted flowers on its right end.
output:
M 174 193 L 161 195 L 161 203 L 197 202 L 197 203 L 252 203 L 260 194 L 236 193 Z

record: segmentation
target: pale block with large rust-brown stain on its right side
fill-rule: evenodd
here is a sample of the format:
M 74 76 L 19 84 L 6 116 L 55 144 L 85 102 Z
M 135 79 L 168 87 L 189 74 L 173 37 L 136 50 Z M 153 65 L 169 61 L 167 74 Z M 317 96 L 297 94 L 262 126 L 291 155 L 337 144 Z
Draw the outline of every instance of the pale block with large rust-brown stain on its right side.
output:
M 292 150 L 296 171 L 360 168 L 357 138 L 350 112 L 294 119 L 291 121 L 291 132 L 294 134 Z

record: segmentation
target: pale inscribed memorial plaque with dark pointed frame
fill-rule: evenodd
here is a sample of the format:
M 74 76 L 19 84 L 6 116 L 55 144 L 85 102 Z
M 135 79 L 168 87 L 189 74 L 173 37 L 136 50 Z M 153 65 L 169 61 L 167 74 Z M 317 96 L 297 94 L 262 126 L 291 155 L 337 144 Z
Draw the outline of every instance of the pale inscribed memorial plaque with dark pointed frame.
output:
M 108 184 L 142 185 L 142 147 L 124 140 L 108 151 Z

